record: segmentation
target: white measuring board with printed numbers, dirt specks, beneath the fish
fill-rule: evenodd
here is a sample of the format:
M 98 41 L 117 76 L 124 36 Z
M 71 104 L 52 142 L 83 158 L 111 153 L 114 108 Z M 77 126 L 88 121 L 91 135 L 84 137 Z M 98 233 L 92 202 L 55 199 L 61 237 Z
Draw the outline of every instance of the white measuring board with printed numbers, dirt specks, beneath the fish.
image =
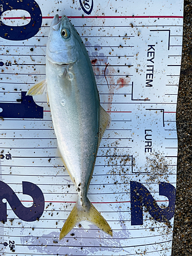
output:
M 0 8 L 1 255 L 171 255 L 183 2 L 1 0 Z M 46 95 L 26 96 L 46 77 L 57 13 L 86 45 L 112 118 L 88 197 L 113 238 L 83 221 L 58 240 L 76 188 L 56 157 Z

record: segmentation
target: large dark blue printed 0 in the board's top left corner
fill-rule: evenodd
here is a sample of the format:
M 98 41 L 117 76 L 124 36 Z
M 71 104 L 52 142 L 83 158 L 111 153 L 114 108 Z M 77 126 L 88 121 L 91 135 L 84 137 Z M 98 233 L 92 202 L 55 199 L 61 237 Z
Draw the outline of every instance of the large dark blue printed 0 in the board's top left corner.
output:
M 34 0 L 15 1 L 15 0 L 4 0 L 0 9 L 0 16 L 3 12 L 20 9 L 30 13 L 31 21 L 25 26 L 7 26 L 0 20 L 0 37 L 18 41 L 26 40 L 33 37 L 41 27 L 42 13 L 40 7 Z

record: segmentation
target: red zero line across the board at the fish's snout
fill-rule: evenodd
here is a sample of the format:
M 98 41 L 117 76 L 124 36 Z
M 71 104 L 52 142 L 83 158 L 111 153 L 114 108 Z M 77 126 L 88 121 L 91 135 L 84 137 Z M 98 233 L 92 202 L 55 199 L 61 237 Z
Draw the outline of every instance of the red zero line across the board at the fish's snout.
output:
M 26 17 L 26 19 L 30 18 Z M 44 16 L 42 18 L 54 18 L 54 16 Z M 183 16 L 68 16 L 68 18 L 183 18 Z M 23 17 L 4 17 L 4 19 L 23 19 Z

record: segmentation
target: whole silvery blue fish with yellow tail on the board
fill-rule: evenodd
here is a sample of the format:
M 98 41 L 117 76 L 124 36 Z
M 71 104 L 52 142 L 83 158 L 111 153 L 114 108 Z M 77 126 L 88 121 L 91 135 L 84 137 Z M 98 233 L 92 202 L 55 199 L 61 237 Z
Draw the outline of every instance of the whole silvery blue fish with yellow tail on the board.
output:
M 59 240 L 86 220 L 113 236 L 108 222 L 88 198 L 99 144 L 111 118 L 100 105 L 86 47 L 67 16 L 52 20 L 46 49 L 46 79 L 26 95 L 47 93 L 60 157 L 76 186 L 78 198 Z

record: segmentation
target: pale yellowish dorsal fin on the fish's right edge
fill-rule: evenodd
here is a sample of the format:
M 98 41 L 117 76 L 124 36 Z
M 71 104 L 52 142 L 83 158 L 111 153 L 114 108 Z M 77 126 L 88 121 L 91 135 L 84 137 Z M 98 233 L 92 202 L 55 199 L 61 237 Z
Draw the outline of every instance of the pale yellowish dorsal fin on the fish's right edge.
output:
M 99 139 L 97 144 L 97 150 L 99 148 L 101 139 L 103 137 L 104 131 L 110 126 L 111 123 L 111 117 L 106 111 L 100 106 L 100 120 L 99 120 L 100 126 L 99 126 Z

